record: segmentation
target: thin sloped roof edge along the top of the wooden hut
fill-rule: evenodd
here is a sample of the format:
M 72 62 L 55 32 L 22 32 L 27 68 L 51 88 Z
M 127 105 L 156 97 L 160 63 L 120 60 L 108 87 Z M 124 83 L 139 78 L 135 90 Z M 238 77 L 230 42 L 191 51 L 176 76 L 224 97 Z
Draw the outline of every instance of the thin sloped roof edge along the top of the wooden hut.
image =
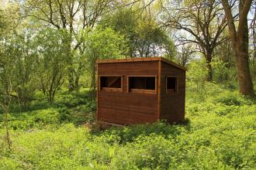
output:
M 180 66 L 177 63 L 174 63 L 163 57 L 137 57 L 137 58 L 127 58 L 127 59 L 99 59 L 97 63 L 123 63 L 123 62 L 140 62 L 140 61 L 162 61 L 171 66 L 175 66 L 181 70 L 186 70 L 184 66 Z

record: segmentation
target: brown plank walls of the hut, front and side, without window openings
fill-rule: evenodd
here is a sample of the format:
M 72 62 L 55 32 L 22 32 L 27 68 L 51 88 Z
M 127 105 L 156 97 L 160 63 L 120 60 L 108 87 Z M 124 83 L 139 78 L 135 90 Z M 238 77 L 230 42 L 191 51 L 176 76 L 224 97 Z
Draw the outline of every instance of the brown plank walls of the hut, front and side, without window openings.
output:
M 184 120 L 185 70 L 161 59 L 144 62 L 99 62 L 98 76 L 104 75 L 123 76 L 123 90 L 98 91 L 99 121 L 112 124 L 144 124 L 159 119 L 166 119 L 169 123 Z M 129 91 L 129 76 L 157 76 L 157 90 L 155 93 Z M 178 93 L 166 93 L 166 76 L 178 76 Z

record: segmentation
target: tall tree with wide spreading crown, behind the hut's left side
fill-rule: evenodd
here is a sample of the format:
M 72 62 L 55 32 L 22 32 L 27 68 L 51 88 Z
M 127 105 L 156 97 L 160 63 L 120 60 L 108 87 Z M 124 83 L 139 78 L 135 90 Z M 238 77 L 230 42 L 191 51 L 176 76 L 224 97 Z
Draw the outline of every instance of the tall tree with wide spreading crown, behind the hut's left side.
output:
M 81 76 L 82 63 L 76 62 L 74 51 L 79 50 L 84 42 L 83 34 L 95 26 L 101 18 L 102 12 L 110 7 L 112 0 L 29 0 L 24 5 L 26 15 L 36 22 L 43 23 L 65 32 L 67 38 L 63 43 L 67 44 L 66 56 L 68 61 L 69 90 L 78 88 Z

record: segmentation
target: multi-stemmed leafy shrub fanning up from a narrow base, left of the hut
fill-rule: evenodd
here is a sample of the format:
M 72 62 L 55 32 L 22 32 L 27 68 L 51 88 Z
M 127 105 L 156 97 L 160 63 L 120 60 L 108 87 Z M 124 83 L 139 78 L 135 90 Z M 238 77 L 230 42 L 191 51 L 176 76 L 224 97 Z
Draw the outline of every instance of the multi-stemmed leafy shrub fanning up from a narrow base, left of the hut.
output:
M 50 103 L 53 103 L 56 91 L 64 83 L 67 73 L 65 50 L 68 49 L 63 43 L 65 37 L 65 32 L 52 29 L 45 29 L 36 36 L 40 85 Z

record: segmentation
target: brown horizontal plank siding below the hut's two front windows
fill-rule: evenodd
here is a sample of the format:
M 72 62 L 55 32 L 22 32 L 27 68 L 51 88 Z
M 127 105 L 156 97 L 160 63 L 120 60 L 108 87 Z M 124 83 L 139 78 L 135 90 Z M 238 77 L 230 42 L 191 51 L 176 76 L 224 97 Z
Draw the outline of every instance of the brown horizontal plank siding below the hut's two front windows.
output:
M 157 95 L 144 93 L 99 92 L 100 121 L 126 124 L 157 120 Z

